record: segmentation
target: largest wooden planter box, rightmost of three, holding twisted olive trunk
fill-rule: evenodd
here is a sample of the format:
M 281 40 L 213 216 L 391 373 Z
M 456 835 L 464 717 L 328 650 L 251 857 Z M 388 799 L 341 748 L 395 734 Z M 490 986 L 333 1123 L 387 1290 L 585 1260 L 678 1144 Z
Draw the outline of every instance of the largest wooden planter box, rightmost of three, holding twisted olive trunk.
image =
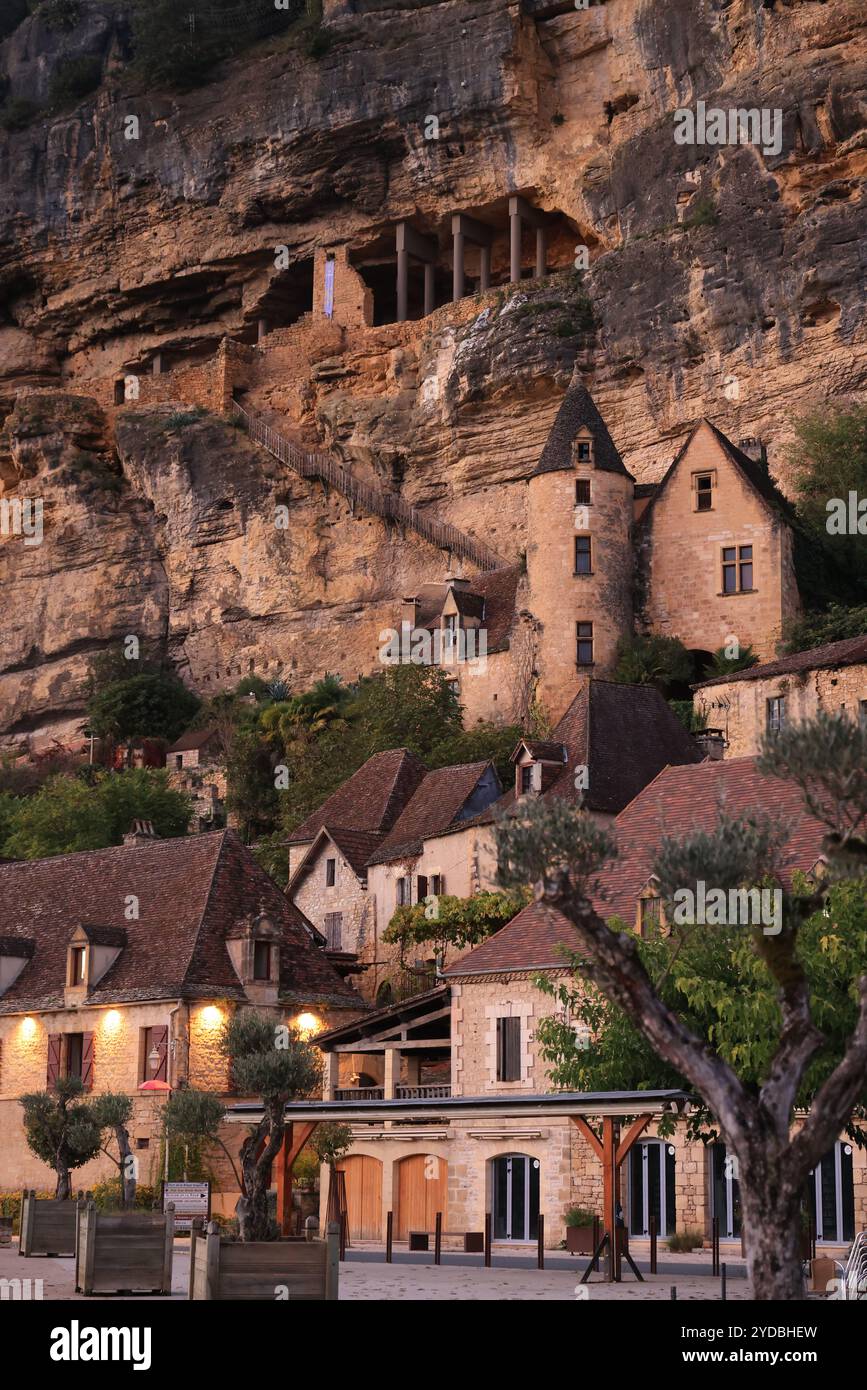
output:
M 190 1232 L 189 1297 L 265 1298 L 268 1302 L 336 1300 L 339 1270 L 336 1222 L 325 1240 L 224 1240 L 215 1222 Z

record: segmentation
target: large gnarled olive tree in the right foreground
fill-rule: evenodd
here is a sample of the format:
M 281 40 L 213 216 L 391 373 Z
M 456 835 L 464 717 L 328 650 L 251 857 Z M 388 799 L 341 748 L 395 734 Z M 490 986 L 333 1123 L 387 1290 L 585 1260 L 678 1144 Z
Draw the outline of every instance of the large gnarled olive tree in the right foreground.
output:
M 527 802 L 496 828 L 500 881 L 531 883 L 538 901 L 561 912 L 575 929 L 579 977 L 618 1006 L 653 1051 L 685 1077 L 713 1113 L 727 1148 L 738 1161 L 748 1270 L 756 1298 L 803 1297 L 798 1250 L 798 1213 L 810 1172 L 850 1123 L 864 1101 L 867 1077 L 867 973 L 854 969 L 848 988 L 853 1001 L 849 1036 L 838 1038 L 838 1056 L 811 1093 L 810 1109 L 792 1133 L 796 1098 L 807 1069 L 827 1045 L 817 1026 L 811 983 L 799 949 L 799 934 L 827 903 L 835 885 L 854 884 L 863 901 L 867 885 L 867 730 L 845 717 L 820 716 L 766 741 L 759 759 L 766 774 L 795 781 L 804 802 L 827 827 L 827 872 L 816 881 L 782 892 L 782 834 L 760 817 L 722 819 L 713 831 L 667 840 L 654 872 L 666 903 L 671 954 L 685 937 L 714 930 L 675 915 L 677 894 L 697 881 L 720 888 L 773 883 L 782 894 L 779 922 L 745 926 L 754 958 L 773 984 L 775 1037 L 759 1080 L 741 1074 L 713 1037 L 702 1036 L 685 1011 L 667 1002 L 660 980 L 650 977 L 641 941 L 632 931 L 606 924 L 592 899 L 599 872 L 616 858 L 611 834 L 564 802 Z M 681 898 L 679 902 L 684 899 Z M 678 903 L 679 905 L 679 903 Z M 832 924 L 829 924 L 832 926 Z M 696 988 L 702 981 L 699 980 Z M 724 1027 L 724 1024 L 722 1024 Z

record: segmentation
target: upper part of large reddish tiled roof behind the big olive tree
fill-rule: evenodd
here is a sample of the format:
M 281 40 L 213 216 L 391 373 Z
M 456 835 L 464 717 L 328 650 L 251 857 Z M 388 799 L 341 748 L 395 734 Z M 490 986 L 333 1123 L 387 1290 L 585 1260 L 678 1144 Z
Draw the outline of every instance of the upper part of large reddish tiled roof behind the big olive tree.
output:
M 791 824 L 784 849 L 786 885 L 793 869 L 807 872 L 823 852 L 824 827 L 804 810 L 798 787 L 778 777 L 763 777 L 754 758 L 666 767 L 614 823 L 620 856 L 599 876 L 600 916 L 620 916 L 631 924 L 663 835 L 713 830 L 721 809 L 729 816 L 766 812 Z

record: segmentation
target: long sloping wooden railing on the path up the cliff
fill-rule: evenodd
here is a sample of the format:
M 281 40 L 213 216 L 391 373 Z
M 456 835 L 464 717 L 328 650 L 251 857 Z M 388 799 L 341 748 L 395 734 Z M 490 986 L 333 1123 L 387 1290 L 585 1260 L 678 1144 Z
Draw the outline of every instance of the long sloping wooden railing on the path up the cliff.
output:
M 261 445 L 263 449 L 267 449 L 268 453 L 279 459 L 281 463 L 285 463 L 288 468 L 300 474 L 302 478 L 320 478 L 322 482 L 331 484 L 345 498 L 349 498 L 353 506 L 361 507 L 364 512 L 372 512 L 375 516 L 385 517 L 389 521 L 400 521 L 403 525 L 411 527 L 425 541 L 439 546 L 442 550 L 450 550 L 453 555 L 470 560 L 479 570 L 502 570 L 506 567 L 506 560 L 495 555 L 482 541 L 477 541 L 446 521 L 435 521 L 432 517 L 418 512 L 417 507 L 410 506 L 403 498 L 396 498 L 392 492 L 383 492 L 381 488 L 371 488 L 365 482 L 358 482 L 331 455 L 299 449 L 290 439 L 286 439 L 285 435 L 278 434 L 276 430 L 265 424 L 261 416 L 245 410 L 236 400 L 232 402 L 232 413 L 236 420 L 240 420 L 254 443 Z

